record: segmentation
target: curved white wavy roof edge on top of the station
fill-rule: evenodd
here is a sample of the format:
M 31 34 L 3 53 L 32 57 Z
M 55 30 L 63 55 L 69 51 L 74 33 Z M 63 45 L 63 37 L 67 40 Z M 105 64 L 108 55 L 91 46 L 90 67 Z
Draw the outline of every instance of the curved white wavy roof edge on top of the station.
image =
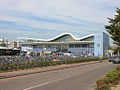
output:
M 60 35 L 58 35 L 58 36 L 56 36 L 56 37 L 53 37 L 53 38 L 51 38 L 51 39 L 37 39 L 37 38 L 25 38 L 25 37 L 18 37 L 18 39 L 20 39 L 20 40 L 38 40 L 38 41 L 50 42 L 50 41 L 53 41 L 53 40 L 55 40 L 55 39 L 57 39 L 57 38 L 60 38 L 60 37 L 62 37 L 62 36 L 64 36 L 64 35 L 70 35 L 74 40 L 82 40 L 82 39 L 85 39 L 85 38 L 94 36 L 94 34 L 90 34 L 90 35 L 87 35 L 87 36 L 78 38 L 78 37 L 75 37 L 75 36 L 74 36 L 73 34 L 71 34 L 71 33 L 63 33 L 63 34 L 60 34 Z

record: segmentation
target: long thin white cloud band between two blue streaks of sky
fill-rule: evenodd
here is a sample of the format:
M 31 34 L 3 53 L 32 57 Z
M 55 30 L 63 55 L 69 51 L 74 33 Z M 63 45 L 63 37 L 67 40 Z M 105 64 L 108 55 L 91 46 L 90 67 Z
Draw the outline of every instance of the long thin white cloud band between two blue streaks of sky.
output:
M 59 24 L 59 23 L 35 21 L 35 20 L 23 19 L 20 17 L 12 17 L 12 16 L 10 17 L 10 16 L 0 15 L 0 20 L 10 21 L 19 25 L 24 25 L 24 26 L 33 27 L 33 28 L 50 29 L 50 30 L 64 31 L 64 32 L 90 33 L 91 31 L 97 30 L 97 29 L 94 29 L 94 27 L 84 28 L 81 26 L 72 26 L 72 25 L 65 25 L 65 24 Z

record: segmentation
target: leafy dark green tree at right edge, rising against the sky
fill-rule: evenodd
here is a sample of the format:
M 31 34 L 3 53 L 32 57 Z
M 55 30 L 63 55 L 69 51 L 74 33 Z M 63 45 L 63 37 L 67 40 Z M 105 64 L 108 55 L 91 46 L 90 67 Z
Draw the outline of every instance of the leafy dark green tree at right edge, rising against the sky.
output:
M 117 14 L 114 19 L 109 19 L 109 25 L 105 25 L 106 30 L 111 35 L 114 43 L 120 47 L 120 9 L 116 9 Z

